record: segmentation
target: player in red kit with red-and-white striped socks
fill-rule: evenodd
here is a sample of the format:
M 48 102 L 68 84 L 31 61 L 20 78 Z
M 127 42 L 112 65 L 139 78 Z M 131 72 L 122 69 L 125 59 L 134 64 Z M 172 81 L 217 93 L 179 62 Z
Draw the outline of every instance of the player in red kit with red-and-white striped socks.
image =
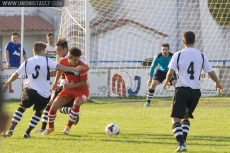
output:
M 78 47 L 72 47 L 68 52 L 68 58 L 61 59 L 59 63 L 69 67 L 76 67 L 80 65 L 86 67 L 86 65 L 79 60 L 81 55 L 82 52 Z M 53 86 L 57 85 L 57 82 L 61 75 L 62 72 L 57 73 Z M 89 96 L 89 90 L 87 85 L 87 70 L 82 70 L 79 73 L 68 72 L 64 73 L 64 75 L 67 84 L 63 85 L 64 89 L 59 93 L 49 110 L 49 128 L 47 128 L 42 135 L 48 135 L 50 132 L 54 131 L 54 121 L 56 118 L 57 110 L 74 98 L 74 104 L 70 113 L 69 122 L 63 131 L 64 134 L 68 135 L 71 126 L 79 115 L 80 106 Z

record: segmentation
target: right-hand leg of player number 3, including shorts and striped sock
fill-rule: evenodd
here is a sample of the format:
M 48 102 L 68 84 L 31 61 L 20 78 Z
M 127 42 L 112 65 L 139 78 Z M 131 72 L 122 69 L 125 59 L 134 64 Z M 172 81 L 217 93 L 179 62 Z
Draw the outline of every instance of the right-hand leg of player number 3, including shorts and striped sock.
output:
M 35 126 L 40 121 L 42 112 L 44 111 L 44 108 L 46 107 L 47 103 L 49 103 L 50 96 L 45 98 L 37 94 L 37 96 L 34 99 L 35 99 L 34 102 L 35 114 L 32 116 L 29 127 L 23 135 L 24 138 L 30 138 L 30 132 L 35 128 Z

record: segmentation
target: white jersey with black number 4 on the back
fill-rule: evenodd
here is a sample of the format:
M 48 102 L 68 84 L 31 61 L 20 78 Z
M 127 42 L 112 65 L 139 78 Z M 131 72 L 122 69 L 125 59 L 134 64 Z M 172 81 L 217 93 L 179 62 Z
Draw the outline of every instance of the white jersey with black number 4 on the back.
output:
M 195 48 L 189 47 L 176 52 L 168 66 L 170 69 L 178 68 L 176 87 L 190 87 L 200 89 L 200 73 L 213 71 L 207 57 Z

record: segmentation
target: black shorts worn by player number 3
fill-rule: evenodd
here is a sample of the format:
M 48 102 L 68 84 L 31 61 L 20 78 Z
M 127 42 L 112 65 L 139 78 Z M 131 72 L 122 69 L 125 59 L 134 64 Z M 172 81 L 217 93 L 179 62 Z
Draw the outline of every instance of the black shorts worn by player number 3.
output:
M 42 97 L 36 90 L 25 88 L 22 93 L 20 106 L 30 108 L 34 104 L 33 110 L 41 111 L 45 109 L 46 105 L 50 101 L 48 98 Z

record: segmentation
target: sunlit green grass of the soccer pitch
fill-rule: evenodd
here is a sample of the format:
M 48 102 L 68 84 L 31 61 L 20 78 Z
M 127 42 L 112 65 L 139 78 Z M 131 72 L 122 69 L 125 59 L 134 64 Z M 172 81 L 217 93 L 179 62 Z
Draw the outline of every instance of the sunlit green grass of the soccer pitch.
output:
M 171 98 L 154 98 L 151 107 L 143 107 L 145 98 L 93 98 L 80 109 L 80 121 L 73 125 L 70 135 L 62 133 L 68 115 L 58 113 L 55 131 L 48 136 L 31 132 L 23 139 L 32 108 L 24 114 L 10 138 L 1 138 L 1 153 L 14 152 L 90 152 L 90 153 L 169 153 L 176 149 L 173 136 Z M 19 101 L 5 104 L 12 117 Z M 187 138 L 188 153 L 230 152 L 230 98 L 202 98 L 191 120 Z M 120 127 L 118 136 L 107 136 L 109 123 Z M 41 122 L 35 127 L 40 128 Z

